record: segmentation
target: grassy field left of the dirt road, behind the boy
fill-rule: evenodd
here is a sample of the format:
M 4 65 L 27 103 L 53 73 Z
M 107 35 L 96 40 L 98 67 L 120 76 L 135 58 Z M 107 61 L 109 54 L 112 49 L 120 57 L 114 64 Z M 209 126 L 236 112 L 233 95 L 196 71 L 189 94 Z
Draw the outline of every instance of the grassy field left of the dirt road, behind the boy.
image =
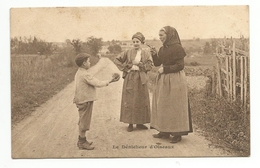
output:
M 63 53 L 11 57 L 11 120 L 18 123 L 74 80 L 73 57 Z

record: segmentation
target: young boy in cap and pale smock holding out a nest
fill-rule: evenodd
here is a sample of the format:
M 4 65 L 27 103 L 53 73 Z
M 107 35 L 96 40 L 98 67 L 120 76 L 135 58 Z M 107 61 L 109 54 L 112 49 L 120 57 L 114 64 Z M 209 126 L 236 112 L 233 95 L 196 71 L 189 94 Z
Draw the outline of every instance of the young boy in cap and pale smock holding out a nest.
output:
M 76 104 L 79 112 L 79 137 L 77 146 L 79 149 L 93 150 L 91 146 L 92 142 L 88 142 L 86 139 L 86 131 L 89 130 L 93 101 L 97 100 L 96 87 L 108 86 L 111 82 L 119 80 L 113 76 L 111 80 L 100 81 L 94 78 L 88 73 L 90 68 L 89 62 L 90 55 L 86 53 L 80 53 L 77 55 L 75 62 L 78 65 L 78 71 L 75 75 L 75 97 L 73 102 Z

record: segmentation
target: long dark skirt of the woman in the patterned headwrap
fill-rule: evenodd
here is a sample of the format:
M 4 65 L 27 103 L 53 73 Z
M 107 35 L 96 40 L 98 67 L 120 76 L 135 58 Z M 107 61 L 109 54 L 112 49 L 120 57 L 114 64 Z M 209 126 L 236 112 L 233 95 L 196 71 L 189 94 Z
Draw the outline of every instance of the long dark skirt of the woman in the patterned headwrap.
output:
M 147 83 L 142 84 L 139 71 L 130 71 L 123 84 L 120 121 L 129 124 L 150 122 Z

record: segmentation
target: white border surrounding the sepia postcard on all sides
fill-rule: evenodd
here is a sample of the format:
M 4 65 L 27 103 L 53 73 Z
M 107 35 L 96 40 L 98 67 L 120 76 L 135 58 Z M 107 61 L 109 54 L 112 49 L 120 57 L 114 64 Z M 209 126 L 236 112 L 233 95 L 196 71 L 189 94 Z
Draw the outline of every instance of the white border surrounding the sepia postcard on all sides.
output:
M 257 2 L 257 1 L 255 1 Z M 259 111 L 257 111 L 259 94 L 259 57 L 257 49 L 259 36 L 259 4 L 253 1 L 218 0 L 209 2 L 207 0 L 189 1 L 114 1 L 95 0 L 86 2 L 84 0 L 73 0 L 61 2 L 58 0 L 2 0 L 0 2 L 1 14 L 1 61 L 0 61 L 0 167 L 257 167 L 259 164 Z M 246 158 L 149 158 L 149 159 L 11 159 L 11 119 L 10 119 L 10 31 L 9 31 L 9 9 L 11 7 L 84 7 L 84 6 L 182 6 L 182 5 L 250 5 L 250 56 L 251 56 L 251 156 Z M 257 44 L 258 43 L 258 44 Z M 256 46 L 257 45 L 257 46 Z

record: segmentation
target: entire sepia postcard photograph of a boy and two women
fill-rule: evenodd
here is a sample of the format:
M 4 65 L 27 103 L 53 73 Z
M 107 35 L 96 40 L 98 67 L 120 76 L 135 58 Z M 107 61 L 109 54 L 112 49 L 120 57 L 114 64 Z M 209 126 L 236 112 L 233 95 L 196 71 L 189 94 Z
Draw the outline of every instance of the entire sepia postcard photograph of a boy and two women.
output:
M 249 157 L 249 10 L 11 8 L 11 157 Z

